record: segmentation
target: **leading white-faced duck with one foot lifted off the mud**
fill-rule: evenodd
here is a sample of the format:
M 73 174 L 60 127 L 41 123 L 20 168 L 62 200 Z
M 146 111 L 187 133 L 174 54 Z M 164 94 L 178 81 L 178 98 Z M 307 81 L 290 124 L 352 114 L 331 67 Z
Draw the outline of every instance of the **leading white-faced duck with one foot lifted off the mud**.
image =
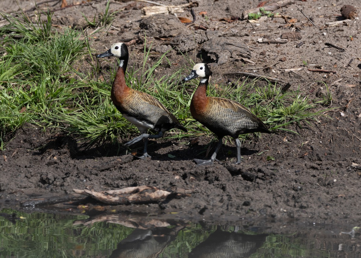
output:
M 114 43 L 110 49 L 97 55 L 97 58 L 113 56 L 119 59 L 119 67 L 113 81 L 111 99 L 114 106 L 122 113 L 126 120 L 134 124 L 140 136 L 125 143 L 130 146 L 144 139 L 143 155 L 139 158 L 145 159 L 149 156 L 147 147 L 148 139 L 161 138 L 164 132 L 178 128 L 184 132 L 187 129 L 181 125 L 178 119 L 164 107 L 164 105 L 152 95 L 131 89 L 126 85 L 125 72 L 128 65 L 129 52 L 126 44 Z M 152 129 L 156 134 L 148 133 Z

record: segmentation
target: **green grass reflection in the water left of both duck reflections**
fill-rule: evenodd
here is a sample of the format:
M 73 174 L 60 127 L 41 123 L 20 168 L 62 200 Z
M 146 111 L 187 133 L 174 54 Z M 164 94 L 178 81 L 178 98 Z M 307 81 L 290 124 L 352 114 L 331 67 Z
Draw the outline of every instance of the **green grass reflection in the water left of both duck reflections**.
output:
M 1 212 L 16 212 L 4 209 Z M 86 215 L 26 214 L 12 224 L 0 216 L 1 257 L 109 257 L 133 229 L 112 223 L 73 225 Z

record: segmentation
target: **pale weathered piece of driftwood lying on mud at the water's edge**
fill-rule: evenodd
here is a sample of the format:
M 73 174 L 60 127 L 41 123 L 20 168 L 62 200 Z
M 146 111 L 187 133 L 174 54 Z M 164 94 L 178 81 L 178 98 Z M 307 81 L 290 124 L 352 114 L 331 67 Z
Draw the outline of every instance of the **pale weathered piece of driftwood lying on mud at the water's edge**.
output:
M 155 186 L 127 187 L 119 190 L 95 192 L 92 190 L 74 189 L 77 194 L 91 196 L 99 202 L 108 205 L 128 205 L 130 203 L 157 203 L 170 197 L 184 197 L 195 193 L 195 190 L 173 188 L 169 191 L 160 190 Z

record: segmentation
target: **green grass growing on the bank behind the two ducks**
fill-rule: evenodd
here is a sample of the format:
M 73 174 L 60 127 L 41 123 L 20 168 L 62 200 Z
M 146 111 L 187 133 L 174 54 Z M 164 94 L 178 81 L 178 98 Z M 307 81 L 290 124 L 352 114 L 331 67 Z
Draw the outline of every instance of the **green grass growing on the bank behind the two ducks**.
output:
M 0 28 L 5 35 L 0 58 L 0 149 L 26 122 L 38 128 L 61 130 L 89 143 L 116 144 L 119 136 L 129 137 L 129 133 L 136 132 L 109 98 L 117 69 L 115 59 L 102 63 L 94 60 L 90 44 L 80 40 L 77 31 L 65 29 L 60 33 L 53 29 L 51 14 L 39 14 L 34 23 L 26 16 L 19 19 L 3 16 L 10 25 Z M 186 134 L 175 130 L 165 137 L 208 134 L 209 130 L 194 122 L 190 114 L 195 82 L 179 84 L 190 69 L 179 67 L 171 74 L 158 76 L 156 70 L 173 66 L 166 53 L 152 64 L 151 48 L 144 47 L 143 55 L 140 69 L 129 65 L 127 84 L 159 99 L 189 131 Z M 87 57 L 86 62 L 80 61 L 83 56 Z M 104 63 L 110 68 L 101 71 L 100 64 Z M 243 82 L 236 88 L 218 85 L 216 90 L 210 83 L 209 95 L 244 104 L 271 129 L 290 130 L 289 124 L 301 125 L 321 112 L 314 111 L 318 102 L 307 94 L 299 90 L 282 93 L 271 83 L 257 86 L 256 81 Z

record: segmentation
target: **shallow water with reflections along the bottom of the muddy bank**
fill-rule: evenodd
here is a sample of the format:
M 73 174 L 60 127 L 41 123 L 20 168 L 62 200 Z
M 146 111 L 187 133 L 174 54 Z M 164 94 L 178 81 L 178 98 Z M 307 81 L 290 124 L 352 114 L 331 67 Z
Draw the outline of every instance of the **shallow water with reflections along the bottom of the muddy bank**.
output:
M 358 231 L 341 233 L 354 225 L 298 222 L 275 229 L 97 213 L 4 208 L 0 257 L 361 257 Z

